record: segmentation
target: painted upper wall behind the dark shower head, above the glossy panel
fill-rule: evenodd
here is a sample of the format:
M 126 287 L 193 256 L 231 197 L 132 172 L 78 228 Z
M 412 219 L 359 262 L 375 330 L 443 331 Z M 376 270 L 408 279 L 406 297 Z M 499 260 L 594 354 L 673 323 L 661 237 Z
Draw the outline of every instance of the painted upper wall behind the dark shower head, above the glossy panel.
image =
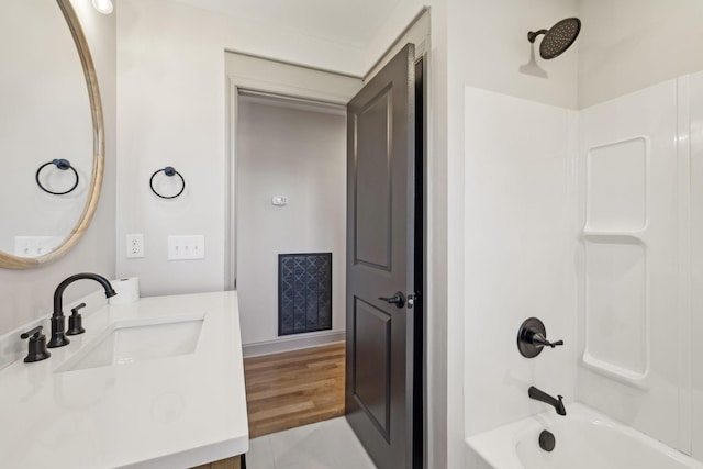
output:
M 578 1 L 521 0 L 456 2 L 450 18 L 451 51 L 455 72 L 466 85 L 498 91 L 560 108 L 577 108 L 577 60 L 580 42 L 553 60 L 539 58 L 535 43 L 536 63 L 548 78 L 521 72 L 528 64 L 532 45 L 529 31 L 551 27 L 557 21 L 576 16 Z M 543 37 L 543 36 L 539 36 Z

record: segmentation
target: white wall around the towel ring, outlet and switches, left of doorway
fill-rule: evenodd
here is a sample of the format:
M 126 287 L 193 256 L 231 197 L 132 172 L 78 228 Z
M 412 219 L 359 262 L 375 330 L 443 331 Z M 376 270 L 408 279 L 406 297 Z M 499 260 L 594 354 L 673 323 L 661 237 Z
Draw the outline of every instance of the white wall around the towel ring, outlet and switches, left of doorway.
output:
M 141 277 L 145 295 L 225 286 L 224 51 L 348 70 L 341 67 L 347 47 L 292 40 L 284 29 L 257 29 L 244 20 L 168 0 L 120 2 L 116 263 L 120 276 Z M 358 67 L 354 57 L 345 64 Z M 148 188 L 152 172 L 167 165 L 188 183 L 170 202 L 157 200 Z M 144 259 L 125 258 L 127 233 L 145 235 Z M 207 258 L 169 263 L 167 236 L 177 234 L 204 235 Z

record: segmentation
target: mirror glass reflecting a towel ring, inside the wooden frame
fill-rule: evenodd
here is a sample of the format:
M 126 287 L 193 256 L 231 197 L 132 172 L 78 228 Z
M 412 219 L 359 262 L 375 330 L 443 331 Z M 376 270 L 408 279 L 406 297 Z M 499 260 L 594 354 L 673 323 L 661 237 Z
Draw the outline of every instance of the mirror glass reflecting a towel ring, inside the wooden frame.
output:
M 0 266 L 24 268 L 72 245 L 101 152 L 80 54 L 92 62 L 69 1 L 0 5 Z

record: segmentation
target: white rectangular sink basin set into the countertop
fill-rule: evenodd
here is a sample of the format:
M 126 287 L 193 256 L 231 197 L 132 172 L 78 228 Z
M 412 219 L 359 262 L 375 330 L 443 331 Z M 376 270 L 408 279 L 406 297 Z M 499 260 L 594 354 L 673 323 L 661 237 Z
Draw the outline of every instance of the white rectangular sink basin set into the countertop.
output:
M 56 372 L 122 366 L 192 354 L 204 313 L 116 321 Z

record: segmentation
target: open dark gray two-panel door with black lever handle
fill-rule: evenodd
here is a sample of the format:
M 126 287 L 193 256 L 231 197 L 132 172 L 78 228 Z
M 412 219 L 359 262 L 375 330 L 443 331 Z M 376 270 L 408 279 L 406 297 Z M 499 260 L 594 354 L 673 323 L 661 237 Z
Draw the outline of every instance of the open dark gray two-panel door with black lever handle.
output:
M 409 44 L 347 107 L 346 417 L 381 469 L 411 468 L 421 431 L 400 298 L 414 291 L 414 82 Z

